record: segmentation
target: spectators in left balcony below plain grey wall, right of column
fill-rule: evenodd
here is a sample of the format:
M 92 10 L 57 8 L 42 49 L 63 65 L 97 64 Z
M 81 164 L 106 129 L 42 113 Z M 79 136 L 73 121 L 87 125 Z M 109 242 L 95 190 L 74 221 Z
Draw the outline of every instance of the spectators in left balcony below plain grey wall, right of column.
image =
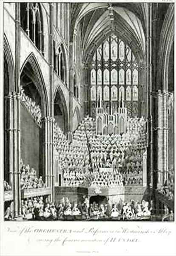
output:
M 43 177 L 37 178 L 37 172 L 21 160 L 21 189 L 41 189 L 46 187 Z

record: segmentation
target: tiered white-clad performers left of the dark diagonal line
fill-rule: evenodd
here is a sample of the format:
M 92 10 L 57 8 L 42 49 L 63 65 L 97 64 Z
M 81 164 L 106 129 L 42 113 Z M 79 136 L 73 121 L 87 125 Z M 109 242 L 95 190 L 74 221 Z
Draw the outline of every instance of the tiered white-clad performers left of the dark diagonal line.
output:
M 54 145 L 59 156 L 59 168 L 62 172 L 63 186 L 80 186 L 90 171 L 87 137 L 84 120 L 69 142 L 62 130 L 54 124 Z

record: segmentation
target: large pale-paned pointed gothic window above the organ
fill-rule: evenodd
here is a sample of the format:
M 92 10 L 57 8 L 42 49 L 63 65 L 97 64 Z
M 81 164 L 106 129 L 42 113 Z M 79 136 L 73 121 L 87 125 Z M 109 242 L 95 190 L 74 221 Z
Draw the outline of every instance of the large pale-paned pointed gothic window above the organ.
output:
M 96 113 L 99 101 L 113 113 L 123 99 L 128 116 L 138 116 L 138 76 L 138 63 L 130 47 L 110 36 L 91 61 L 91 115 Z

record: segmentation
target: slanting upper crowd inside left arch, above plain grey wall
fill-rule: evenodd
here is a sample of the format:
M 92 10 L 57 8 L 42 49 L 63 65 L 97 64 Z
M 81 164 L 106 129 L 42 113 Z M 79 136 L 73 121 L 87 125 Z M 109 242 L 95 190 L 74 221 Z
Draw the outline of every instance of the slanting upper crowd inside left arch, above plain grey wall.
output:
M 21 88 L 21 101 L 25 104 L 28 111 L 33 116 L 35 122 L 37 122 L 38 125 L 41 125 L 41 119 L 42 119 L 42 112 L 40 109 L 40 106 L 36 104 L 35 101 L 33 101 L 30 97 L 28 97 L 23 89 L 23 86 L 20 86 Z

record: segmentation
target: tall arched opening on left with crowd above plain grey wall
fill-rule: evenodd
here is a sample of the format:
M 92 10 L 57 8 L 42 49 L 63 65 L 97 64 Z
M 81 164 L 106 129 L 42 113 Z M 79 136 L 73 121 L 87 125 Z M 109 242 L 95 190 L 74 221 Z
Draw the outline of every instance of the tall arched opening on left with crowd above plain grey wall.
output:
M 21 159 L 42 175 L 42 102 L 36 74 L 27 62 L 20 76 Z

